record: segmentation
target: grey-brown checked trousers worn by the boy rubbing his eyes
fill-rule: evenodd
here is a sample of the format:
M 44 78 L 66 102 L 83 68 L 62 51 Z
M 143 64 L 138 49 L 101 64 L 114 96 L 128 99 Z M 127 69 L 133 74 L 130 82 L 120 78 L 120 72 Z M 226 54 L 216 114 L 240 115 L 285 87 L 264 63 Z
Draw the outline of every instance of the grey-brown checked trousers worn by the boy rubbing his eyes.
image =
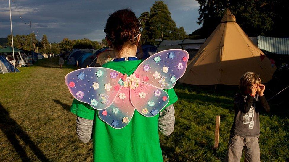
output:
M 259 137 L 240 137 L 230 135 L 228 143 L 228 153 L 225 161 L 240 161 L 243 147 L 245 149 L 245 159 L 248 162 L 260 161 Z

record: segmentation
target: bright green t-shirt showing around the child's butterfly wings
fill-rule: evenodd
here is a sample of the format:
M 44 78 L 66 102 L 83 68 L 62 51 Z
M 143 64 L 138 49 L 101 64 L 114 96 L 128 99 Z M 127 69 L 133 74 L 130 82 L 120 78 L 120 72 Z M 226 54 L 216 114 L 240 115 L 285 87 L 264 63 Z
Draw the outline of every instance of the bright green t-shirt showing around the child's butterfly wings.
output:
M 108 62 L 103 65 L 121 73 L 131 75 L 142 60 Z M 169 106 L 178 100 L 174 89 L 165 90 Z M 158 117 L 145 117 L 137 110 L 126 127 L 114 129 L 100 120 L 98 110 L 89 104 L 73 100 L 70 111 L 78 117 L 94 120 L 93 158 L 94 161 L 163 161 L 158 136 Z

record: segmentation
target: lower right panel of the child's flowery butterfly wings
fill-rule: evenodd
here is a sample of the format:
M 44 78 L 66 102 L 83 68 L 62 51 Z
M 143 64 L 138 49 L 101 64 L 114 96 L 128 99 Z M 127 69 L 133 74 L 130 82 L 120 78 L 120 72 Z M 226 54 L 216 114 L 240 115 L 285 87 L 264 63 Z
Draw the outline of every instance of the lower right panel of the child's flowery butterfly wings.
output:
M 146 117 L 158 114 L 169 101 L 166 91 L 142 82 L 130 90 L 130 99 L 134 108 Z

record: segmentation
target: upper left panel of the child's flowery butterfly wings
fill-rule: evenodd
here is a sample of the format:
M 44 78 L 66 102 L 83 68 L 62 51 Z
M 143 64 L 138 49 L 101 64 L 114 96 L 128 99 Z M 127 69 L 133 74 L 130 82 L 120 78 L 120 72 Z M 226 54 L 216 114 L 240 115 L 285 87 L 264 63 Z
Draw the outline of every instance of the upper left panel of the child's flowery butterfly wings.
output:
M 75 99 L 90 104 L 94 109 L 102 110 L 113 103 L 120 91 L 120 74 L 109 68 L 82 68 L 68 73 L 65 76 L 65 84 Z

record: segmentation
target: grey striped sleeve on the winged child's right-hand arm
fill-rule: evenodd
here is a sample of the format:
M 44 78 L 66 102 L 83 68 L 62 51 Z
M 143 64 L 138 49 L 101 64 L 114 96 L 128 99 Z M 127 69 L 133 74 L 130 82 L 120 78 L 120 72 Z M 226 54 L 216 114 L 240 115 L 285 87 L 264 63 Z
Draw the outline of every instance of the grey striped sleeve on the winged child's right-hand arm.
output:
M 175 108 L 174 105 L 166 107 L 158 117 L 158 130 L 168 136 L 174 131 L 175 127 Z

